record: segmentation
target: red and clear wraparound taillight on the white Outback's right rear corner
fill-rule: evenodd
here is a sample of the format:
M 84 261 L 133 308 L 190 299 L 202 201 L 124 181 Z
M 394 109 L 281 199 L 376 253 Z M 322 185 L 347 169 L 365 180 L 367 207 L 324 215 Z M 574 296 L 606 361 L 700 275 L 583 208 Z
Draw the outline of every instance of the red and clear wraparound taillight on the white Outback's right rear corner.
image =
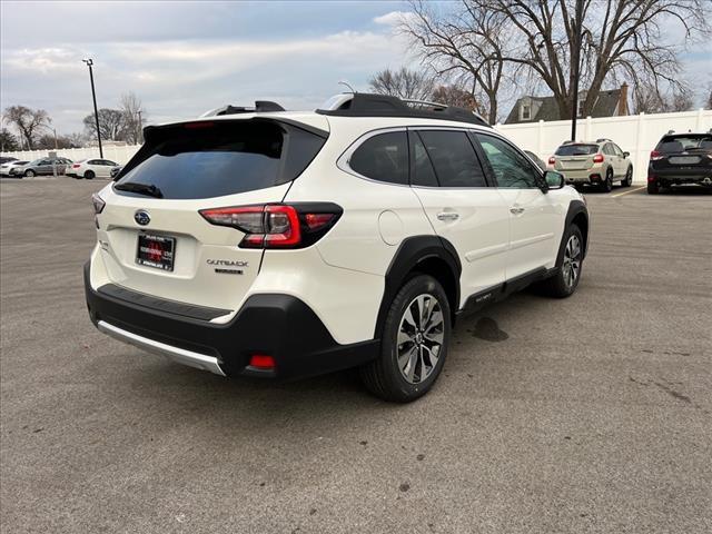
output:
M 201 209 L 211 225 L 245 233 L 240 248 L 303 248 L 334 226 L 343 210 L 335 204 L 267 204 Z

